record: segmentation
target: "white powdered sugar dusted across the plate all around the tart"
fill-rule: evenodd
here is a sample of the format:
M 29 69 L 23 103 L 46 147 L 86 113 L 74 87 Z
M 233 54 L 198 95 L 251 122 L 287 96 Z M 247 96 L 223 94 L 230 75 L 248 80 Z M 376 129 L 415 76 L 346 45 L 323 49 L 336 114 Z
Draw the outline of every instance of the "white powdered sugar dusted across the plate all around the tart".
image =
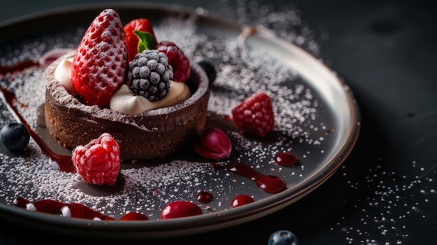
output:
M 0 52 L 0 64 L 10 65 L 22 60 L 38 60 L 54 47 L 76 47 L 85 28 L 18 43 L 15 49 L 5 47 Z M 184 31 L 181 31 L 184 30 Z M 247 96 L 265 91 L 272 98 L 275 113 L 275 133 L 270 141 L 246 138 L 228 131 L 232 140 L 232 156 L 223 163 L 246 161 L 256 170 L 286 179 L 288 187 L 302 181 L 320 167 L 316 154 L 325 149 L 322 144 L 327 128 L 333 125 L 327 110 L 319 110 L 318 95 L 299 80 L 298 75 L 284 68 L 262 50 L 246 47 L 237 38 L 208 36 L 198 31 L 195 17 L 168 18 L 155 27 L 160 40 L 175 40 L 192 62 L 208 59 L 217 66 L 218 76 L 211 89 L 209 111 L 231 114 L 231 110 Z M 14 91 L 18 108 L 37 132 L 44 131 L 41 107 L 45 100 L 43 68 L 29 68 L 22 73 L 0 77 L 0 86 Z M 0 124 L 15 121 L 5 105 L 0 105 Z M 322 118 L 323 120 L 320 120 Z M 335 133 L 332 134 L 334 138 Z M 280 152 L 295 153 L 302 160 L 297 168 L 278 168 L 274 156 Z M 255 200 L 272 194 L 260 191 L 251 179 L 214 170 L 212 163 L 172 160 L 163 164 L 142 163 L 121 166 L 115 186 L 98 187 L 85 184 L 78 175 L 60 172 L 34 140 L 24 154 L 0 151 L 0 196 L 8 204 L 19 196 L 29 200 L 54 199 L 80 202 L 115 218 L 128 211 L 141 211 L 151 219 L 159 218 L 169 202 L 188 200 L 204 209 L 204 213 L 230 207 L 230 200 L 239 193 L 255 193 Z M 320 156 L 321 155 L 321 156 Z M 311 160 L 313 158 L 313 160 Z M 306 164 L 306 160 L 311 164 Z M 199 191 L 213 193 L 208 205 L 196 201 Z

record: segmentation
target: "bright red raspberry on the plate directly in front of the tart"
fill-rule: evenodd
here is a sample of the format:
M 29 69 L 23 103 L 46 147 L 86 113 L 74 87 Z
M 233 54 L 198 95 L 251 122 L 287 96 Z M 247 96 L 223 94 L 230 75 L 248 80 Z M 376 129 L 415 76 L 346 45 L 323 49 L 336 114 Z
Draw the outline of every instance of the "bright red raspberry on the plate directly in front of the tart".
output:
M 89 184 L 112 185 L 120 169 L 120 149 L 108 133 L 73 150 L 73 165 L 80 177 Z

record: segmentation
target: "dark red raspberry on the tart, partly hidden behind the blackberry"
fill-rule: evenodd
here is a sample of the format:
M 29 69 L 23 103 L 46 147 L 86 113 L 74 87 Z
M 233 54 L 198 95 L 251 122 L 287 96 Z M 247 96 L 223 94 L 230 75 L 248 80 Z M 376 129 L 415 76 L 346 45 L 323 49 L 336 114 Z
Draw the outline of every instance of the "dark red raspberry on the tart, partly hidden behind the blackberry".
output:
M 161 41 L 158 43 L 158 50 L 167 54 L 168 62 L 173 68 L 173 81 L 185 82 L 190 77 L 190 61 L 185 56 L 184 52 L 177 47 L 175 43 L 170 41 Z

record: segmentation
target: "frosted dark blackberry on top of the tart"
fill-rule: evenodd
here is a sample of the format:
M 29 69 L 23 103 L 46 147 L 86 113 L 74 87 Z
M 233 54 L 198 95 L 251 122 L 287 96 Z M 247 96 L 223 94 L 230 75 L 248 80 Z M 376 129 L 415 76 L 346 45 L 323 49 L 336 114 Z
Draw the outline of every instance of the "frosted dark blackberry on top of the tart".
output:
M 173 68 L 167 55 L 158 50 L 145 50 L 129 64 L 128 87 L 149 101 L 158 101 L 167 94 L 173 79 Z

